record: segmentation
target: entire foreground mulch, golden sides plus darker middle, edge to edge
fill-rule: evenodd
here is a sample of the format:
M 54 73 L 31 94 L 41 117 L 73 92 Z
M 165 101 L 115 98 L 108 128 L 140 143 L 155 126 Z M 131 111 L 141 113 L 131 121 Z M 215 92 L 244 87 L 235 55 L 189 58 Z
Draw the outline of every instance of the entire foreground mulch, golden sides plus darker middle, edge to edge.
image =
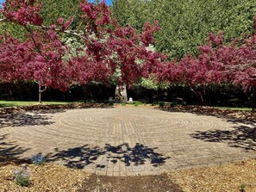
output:
M 13 171 L 28 166 L 31 184 L 16 185 Z M 256 159 L 237 161 L 191 170 L 178 170 L 159 176 L 107 177 L 58 164 L 34 165 L 0 155 L 0 191 L 54 192 L 230 192 L 256 191 Z

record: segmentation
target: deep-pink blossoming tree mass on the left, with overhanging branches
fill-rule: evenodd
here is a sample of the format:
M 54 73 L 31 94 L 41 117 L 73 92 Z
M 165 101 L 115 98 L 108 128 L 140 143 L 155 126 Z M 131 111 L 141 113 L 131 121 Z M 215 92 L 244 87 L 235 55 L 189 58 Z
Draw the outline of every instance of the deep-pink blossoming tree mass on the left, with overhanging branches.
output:
M 129 87 L 156 71 L 163 59 L 162 54 L 147 49 L 159 30 L 157 22 L 145 23 L 138 33 L 130 26 L 122 28 L 104 2 L 84 1 L 79 28 L 72 29 L 72 16 L 45 25 L 41 9 L 37 0 L 7 0 L 0 9 L 0 22 L 15 23 L 27 31 L 24 40 L 0 35 L 0 81 L 36 82 L 40 102 L 47 87 L 67 90 L 72 84 L 91 81 L 109 84 L 116 71 L 116 82 Z M 74 51 L 64 40 L 68 37 L 76 38 L 83 48 Z

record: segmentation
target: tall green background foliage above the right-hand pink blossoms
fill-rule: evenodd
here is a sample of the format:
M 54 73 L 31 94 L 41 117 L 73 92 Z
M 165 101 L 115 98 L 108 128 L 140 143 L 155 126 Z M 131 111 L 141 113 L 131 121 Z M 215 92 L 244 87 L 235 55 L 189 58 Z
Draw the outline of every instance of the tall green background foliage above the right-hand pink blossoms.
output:
M 145 21 L 158 20 L 161 30 L 155 35 L 156 49 L 171 58 L 198 54 L 209 32 L 222 30 L 225 43 L 249 33 L 256 12 L 251 0 L 118 0 L 113 1 L 117 20 L 140 29 Z

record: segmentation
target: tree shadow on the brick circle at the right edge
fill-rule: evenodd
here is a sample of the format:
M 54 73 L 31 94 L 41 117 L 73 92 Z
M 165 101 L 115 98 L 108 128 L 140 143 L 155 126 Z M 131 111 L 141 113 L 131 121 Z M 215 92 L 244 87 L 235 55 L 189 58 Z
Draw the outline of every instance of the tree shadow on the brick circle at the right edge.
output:
M 240 126 L 234 127 L 234 130 L 208 130 L 197 131 L 190 134 L 192 138 L 200 139 L 206 142 L 227 143 L 228 146 L 238 147 L 256 152 L 256 127 Z

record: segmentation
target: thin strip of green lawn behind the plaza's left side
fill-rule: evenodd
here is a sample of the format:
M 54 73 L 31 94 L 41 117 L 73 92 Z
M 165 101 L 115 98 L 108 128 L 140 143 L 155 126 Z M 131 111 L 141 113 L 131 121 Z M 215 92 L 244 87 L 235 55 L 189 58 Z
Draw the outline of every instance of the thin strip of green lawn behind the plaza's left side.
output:
M 75 102 L 42 102 L 43 105 L 64 105 Z M 23 101 L 0 101 L 0 107 L 18 107 L 18 106 L 29 106 L 38 105 L 39 102 L 23 102 Z

